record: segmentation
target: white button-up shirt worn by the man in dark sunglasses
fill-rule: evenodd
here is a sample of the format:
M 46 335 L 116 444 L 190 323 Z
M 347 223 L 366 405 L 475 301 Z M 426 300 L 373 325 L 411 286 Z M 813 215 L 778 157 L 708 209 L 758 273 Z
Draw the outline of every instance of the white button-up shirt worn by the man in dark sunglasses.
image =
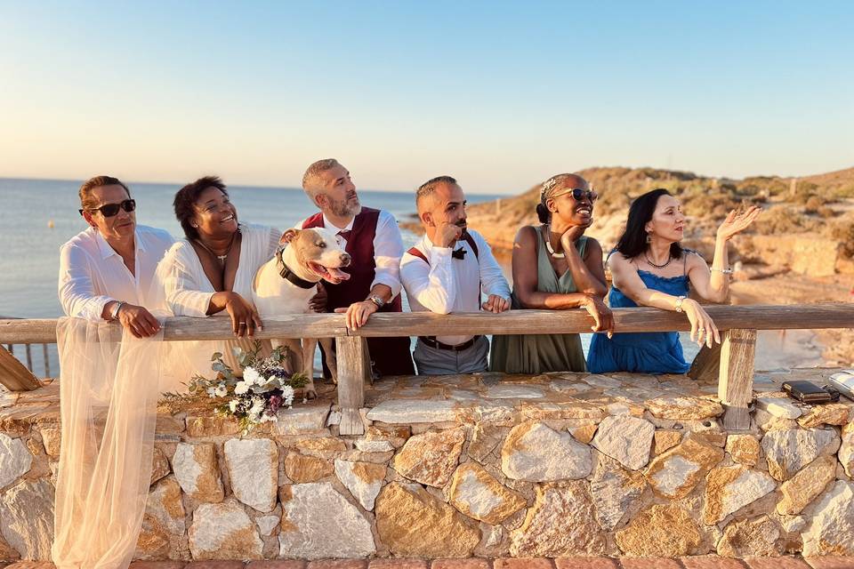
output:
M 60 304 L 69 317 L 100 320 L 111 301 L 143 305 L 157 262 L 174 243 L 163 229 L 137 225 L 133 274 L 98 229 L 86 228 L 60 248 Z

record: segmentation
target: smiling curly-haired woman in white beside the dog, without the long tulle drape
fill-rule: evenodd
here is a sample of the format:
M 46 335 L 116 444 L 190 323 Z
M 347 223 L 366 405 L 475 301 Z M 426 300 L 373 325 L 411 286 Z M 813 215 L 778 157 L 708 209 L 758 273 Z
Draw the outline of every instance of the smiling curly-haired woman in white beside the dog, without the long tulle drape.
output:
M 276 254 L 281 233 L 238 222 L 225 184 L 215 176 L 178 190 L 174 208 L 186 238 L 172 246 L 158 268 L 166 308 L 174 316 L 230 317 L 235 341 L 183 342 L 183 348 L 195 373 L 211 372 L 211 354 L 216 351 L 239 373 L 232 348 L 252 348 L 254 332 L 261 329 L 252 284 L 258 268 Z M 262 341 L 262 351 L 269 349 L 270 341 Z

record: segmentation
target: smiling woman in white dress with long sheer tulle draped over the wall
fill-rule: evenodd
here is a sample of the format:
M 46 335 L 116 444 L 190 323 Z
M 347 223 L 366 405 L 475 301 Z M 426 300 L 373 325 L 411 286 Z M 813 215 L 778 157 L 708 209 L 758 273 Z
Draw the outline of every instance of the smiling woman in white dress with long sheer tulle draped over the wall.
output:
M 102 319 L 60 320 L 57 569 L 126 569 L 149 496 L 160 393 L 180 390 L 192 373 L 210 374 L 214 351 L 239 372 L 230 348 L 250 348 L 262 324 L 249 299 L 278 231 L 238 224 L 219 178 L 181 188 L 174 205 L 187 239 L 166 252 L 141 304 L 157 317 L 228 315 L 236 341 L 164 342 L 162 329 L 120 334 Z

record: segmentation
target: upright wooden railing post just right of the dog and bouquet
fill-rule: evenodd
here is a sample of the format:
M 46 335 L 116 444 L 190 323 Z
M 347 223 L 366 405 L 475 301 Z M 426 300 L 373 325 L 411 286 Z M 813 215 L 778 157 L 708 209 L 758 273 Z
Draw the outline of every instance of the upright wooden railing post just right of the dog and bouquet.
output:
M 365 406 L 365 379 L 370 377 L 367 341 L 360 336 L 335 338 L 338 357 L 338 405 L 341 405 L 342 435 L 361 435 L 365 432 L 359 409 Z

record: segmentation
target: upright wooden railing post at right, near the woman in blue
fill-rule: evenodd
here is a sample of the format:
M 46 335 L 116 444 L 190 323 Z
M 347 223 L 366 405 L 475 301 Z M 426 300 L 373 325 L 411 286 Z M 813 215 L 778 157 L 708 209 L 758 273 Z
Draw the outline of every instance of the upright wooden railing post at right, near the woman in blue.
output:
M 750 412 L 747 406 L 753 399 L 755 354 L 755 330 L 734 328 L 723 333 L 718 397 L 721 397 L 724 408 L 723 428 L 726 430 L 750 429 Z

